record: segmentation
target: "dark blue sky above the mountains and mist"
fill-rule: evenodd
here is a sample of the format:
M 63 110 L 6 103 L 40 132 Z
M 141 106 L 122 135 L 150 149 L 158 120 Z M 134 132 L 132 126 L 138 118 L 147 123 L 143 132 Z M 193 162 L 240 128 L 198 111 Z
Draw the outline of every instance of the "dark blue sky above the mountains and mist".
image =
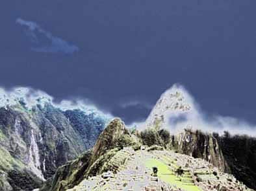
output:
M 129 123 L 179 83 L 205 111 L 256 123 L 255 7 L 254 0 L 1 2 L 0 86 L 90 98 Z

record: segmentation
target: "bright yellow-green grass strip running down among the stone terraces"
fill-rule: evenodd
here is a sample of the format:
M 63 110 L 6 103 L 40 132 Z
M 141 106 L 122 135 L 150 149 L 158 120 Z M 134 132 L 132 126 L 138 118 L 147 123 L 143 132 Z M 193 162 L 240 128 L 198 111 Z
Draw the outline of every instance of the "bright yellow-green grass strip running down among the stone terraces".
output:
M 177 180 L 177 177 L 173 175 L 172 171 L 169 170 L 169 166 L 162 163 L 161 161 L 157 159 L 148 159 L 146 162 L 147 168 L 152 168 L 153 166 L 156 166 L 158 169 L 158 177 L 166 182 L 170 183 L 170 185 L 176 185 L 178 188 L 181 188 L 186 191 L 201 191 L 198 186 L 195 185 L 185 185 L 181 181 Z

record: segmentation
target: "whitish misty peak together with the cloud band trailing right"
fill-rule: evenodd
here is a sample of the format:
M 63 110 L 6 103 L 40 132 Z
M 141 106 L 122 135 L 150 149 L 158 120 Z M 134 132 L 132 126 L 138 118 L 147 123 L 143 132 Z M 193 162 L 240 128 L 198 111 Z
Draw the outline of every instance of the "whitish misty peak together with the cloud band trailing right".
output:
M 175 84 L 166 90 L 151 110 L 145 124 L 139 128 L 157 124 L 159 128 L 168 128 L 179 133 L 184 128 L 200 129 L 204 132 L 216 132 L 221 135 L 229 131 L 231 135 L 256 136 L 256 125 L 241 118 L 225 117 L 203 111 L 196 99 L 183 87 Z

